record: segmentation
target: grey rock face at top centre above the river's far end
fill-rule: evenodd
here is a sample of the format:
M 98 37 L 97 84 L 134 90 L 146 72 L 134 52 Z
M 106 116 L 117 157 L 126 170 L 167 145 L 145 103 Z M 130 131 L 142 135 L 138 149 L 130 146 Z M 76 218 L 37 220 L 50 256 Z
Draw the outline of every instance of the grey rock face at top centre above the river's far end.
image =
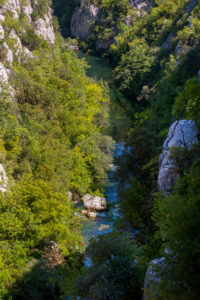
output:
M 92 25 L 99 20 L 100 9 L 85 1 L 77 7 L 71 20 L 71 34 L 80 40 L 86 40 L 91 34 Z

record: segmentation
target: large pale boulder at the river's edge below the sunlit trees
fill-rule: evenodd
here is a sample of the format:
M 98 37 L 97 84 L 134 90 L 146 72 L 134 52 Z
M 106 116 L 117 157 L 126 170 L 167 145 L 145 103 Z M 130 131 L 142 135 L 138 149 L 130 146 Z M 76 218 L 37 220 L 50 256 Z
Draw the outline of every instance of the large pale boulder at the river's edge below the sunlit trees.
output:
M 106 199 L 99 196 L 92 197 L 90 194 L 86 194 L 82 198 L 85 208 L 102 211 L 107 207 Z

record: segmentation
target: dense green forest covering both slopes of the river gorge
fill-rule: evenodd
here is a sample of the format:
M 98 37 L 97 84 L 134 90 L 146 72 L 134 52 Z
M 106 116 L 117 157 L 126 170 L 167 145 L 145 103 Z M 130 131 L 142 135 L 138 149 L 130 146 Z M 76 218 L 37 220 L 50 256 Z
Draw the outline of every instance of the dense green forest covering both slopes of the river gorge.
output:
M 49 2 L 38 3 L 35 19 Z M 23 16 L 8 14 L 4 40 L 14 47 L 14 28 L 34 59 L 14 58 L 14 98 L 9 89 L 0 94 L 0 163 L 9 179 L 0 192 L 0 298 L 142 299 L 149 263 L 165 257 L 151 299 L 199 299 L 199 144 L 174 149 L 181 176 L 171 194 L 158 193 L 157 177 L 170 125 L 194 120 L 200 129 L 200 2 L 190 10 L 189 0 L 155 0 L 143 14 L 127 0 L 87 3 L 101 9 L 101 18 L 77 43 L 96 54 L 97 40 L 111 41 L 101 56 L 113 67 L 116 101 L 131 119 L 129 150 L 115 162 L 120 216 L 113 233 L 90 241 L 93 265 L 83 267 L 81 225 L 68 191 L 104 193 L 114 141 L 108 87 L 86 76 L 86 61 L 66 39 L 80 1 L 53 1 L 53 45 Z

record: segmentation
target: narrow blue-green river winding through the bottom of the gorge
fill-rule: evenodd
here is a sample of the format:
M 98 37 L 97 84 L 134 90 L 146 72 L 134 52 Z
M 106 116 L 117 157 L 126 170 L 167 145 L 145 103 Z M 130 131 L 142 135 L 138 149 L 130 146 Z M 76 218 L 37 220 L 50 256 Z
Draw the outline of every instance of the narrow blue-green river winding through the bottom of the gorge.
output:
M 113 161 L 114 158 L 121 155 L 125 149 L 124 141 L 126 139 L 126 134 L 130 126 L 130 120 L 127 118 L 127 114 L 123 111 L 122 107 L 116 101 L 117 89 L 114 86 L 112 79 L 112 67 L 108 61 L 103 58 L 85 55 L 79 53 L 80 58 L 85 58 L 89 68 L 87 70 L 87 75 L 94 78 L 96 81 L 103 81 L 109 86 L 110 93 L 110 124 L 111 128 L 109 133 L 115 140 L 114 151 L 113 151 Z M 112 204 L 112 209 L 108 212 L 98 213 L 96 219 L 89 219 L 87 217 L 81 217 L 82 223 L 82 236 L 87 245 L 88 240 L 91 237 L 97 237 L 101 234 L 110 233 L 113 231 L 114 220 L 119 216 L 118 213 L 118 181 L 115 176 L 116 166 L 114 164 L 110 165 L 110 170 L 108 171 L 108 179 L 105 188 L 105 197 L 109 204 Z M 90 266 L 91 260 L 89 257 L 85 257 L 85 265 Z

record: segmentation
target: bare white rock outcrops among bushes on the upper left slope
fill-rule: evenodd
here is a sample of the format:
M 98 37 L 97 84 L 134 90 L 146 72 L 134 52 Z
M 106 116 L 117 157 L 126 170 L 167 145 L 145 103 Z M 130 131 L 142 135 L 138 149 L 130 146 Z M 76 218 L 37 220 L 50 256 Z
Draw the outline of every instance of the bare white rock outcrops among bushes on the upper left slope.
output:
M 31 28 L 35 31 L 35 33 L 44 38 L 47 42 L 53 44 L 55 41 L 55 34 L 52 24 L 52 14 L 51 9 L 48 7 L 46 14 L 41 16 L 40 19 L 34 22 L 32 20 L 32 12 L 38 9 L 37 0 L 6 0 L 4 5 L 0 5 L 0 93 L 5 92 L 10 101 L 13 101 L 15 91 L 12 86 L 9 85 L 9 77 L 12 73 L 12 66 L 14 58 L 17 58 L 19 62 L 26 60 L 27 58 L 33 58 L 32 52 L 24 47 L 20 35 L 17 33 L 18 31 L 10 30 L 9 28 L 4 27 L 4 20 L 7 13 L 11 15 L 11 17 L 15 19 L 19 19 L 21 13 L 27 16 L 27 20 Z M 20 23 L 20 22 L 19 22 Z M 25 29 L 21 26 L 21 33 L 25 33 Z M 13 39 L 13 47 L 9 47 L 6 40 L 9 38 Z M 0 164 L 0 191 L 6 192 L 8 185 L 8 177 L 6 176 L 6 172 Z

